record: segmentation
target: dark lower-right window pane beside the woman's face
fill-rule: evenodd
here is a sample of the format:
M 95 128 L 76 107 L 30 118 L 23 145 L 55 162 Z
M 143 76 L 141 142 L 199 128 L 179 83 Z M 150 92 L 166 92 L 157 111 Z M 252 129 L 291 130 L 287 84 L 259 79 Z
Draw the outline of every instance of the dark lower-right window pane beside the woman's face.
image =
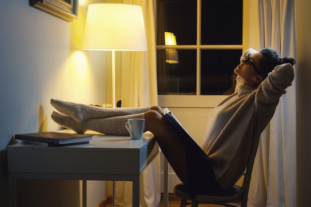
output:
M 232 94 L 235 86 L 233 70 L 240 63 L 242 50 L 201 51 L 201 94 Z

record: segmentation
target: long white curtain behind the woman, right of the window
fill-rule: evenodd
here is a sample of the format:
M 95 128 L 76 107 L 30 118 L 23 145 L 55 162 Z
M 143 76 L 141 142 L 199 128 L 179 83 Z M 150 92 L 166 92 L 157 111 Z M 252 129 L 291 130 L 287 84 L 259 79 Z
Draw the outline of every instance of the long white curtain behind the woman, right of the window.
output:
M 251 0 L 250 42 L 257 51 L 296 56 L 294 0 Z M 262 133 L 248 194 L 248 207 L 296 206 L 296 79 L 280 99 Z

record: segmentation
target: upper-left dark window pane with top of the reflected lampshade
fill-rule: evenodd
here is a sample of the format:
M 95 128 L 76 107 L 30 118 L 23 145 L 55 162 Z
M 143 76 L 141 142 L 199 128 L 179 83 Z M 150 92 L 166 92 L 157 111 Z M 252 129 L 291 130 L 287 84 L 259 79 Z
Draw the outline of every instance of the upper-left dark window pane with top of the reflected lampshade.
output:
M 157 45 L 164 45 L 164 32 L 176 36 L 177 45 L 195 45 L 197 0 L 157 0 Z

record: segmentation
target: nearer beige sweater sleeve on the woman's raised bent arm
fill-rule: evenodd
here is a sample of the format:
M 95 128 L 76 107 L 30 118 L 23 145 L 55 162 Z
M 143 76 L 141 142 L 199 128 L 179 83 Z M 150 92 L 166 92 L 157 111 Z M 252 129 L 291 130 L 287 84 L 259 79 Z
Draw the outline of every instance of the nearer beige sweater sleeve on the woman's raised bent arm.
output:
M 257 123 L 259 125 L 264 124 L 263 129 L 257 130 L 264 130 L 274 114 L 280 97 L 286 93 L 285 89 L 292 85 L 293 80 L 293 66 L 291 64 L 283 64 L 269 72 L 268 77 L 261 82 L 255 94 L 255 113 L 257 120 L 265 124 Z

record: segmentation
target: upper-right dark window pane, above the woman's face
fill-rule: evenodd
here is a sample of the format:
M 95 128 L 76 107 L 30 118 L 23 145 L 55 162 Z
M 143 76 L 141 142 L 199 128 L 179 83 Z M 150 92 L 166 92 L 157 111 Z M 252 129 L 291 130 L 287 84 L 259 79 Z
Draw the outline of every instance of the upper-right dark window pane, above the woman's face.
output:
M 202 45 L 241 45 L 243 0 L 202 0 Z

